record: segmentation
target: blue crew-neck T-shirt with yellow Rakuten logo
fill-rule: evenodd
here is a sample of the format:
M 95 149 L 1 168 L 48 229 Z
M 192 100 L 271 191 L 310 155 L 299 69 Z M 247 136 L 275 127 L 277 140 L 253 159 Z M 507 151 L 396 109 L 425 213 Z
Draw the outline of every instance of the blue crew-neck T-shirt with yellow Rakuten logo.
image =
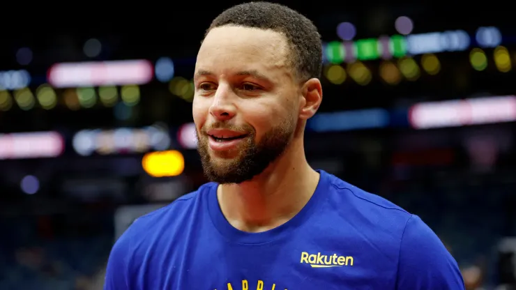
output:
M 112 249 L 105 289 L 464 289 L 418 216 L 319 172 L 308 204 L 269 231 L 232 227 L 216 183 L 140 217 Z

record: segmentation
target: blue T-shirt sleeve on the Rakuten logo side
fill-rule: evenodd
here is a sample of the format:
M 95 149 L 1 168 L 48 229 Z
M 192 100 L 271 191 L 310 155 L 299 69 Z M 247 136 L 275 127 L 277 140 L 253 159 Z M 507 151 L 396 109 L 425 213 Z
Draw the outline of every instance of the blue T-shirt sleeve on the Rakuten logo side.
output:
M 397 270 L 397 290 L 464 290 L 457 262 L 417 215 L 405 227 Z

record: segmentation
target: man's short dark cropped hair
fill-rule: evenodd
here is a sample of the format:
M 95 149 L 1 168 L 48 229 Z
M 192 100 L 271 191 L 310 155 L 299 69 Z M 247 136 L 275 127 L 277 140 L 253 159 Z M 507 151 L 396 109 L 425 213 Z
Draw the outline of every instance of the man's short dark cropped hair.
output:
M 271 29 L 287 38 L 289 64 L 297 77 L 319 78 L 322 70 L 322 44 L 317 27 L 295 10 L 277 3 L 250 2 L 233 6 L 211 22 L 211 29 L 225 25 Z M 204 37 L 206 37 L 206 35 Z

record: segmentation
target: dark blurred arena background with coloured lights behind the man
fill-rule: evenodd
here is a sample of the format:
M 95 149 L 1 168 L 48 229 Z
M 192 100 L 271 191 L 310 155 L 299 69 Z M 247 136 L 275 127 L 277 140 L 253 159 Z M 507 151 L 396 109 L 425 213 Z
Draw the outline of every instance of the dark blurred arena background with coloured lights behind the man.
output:
M 205 182 L 192 73 L 204 29 L 234 3 L 13 17 L 0 36 L 0 289 L 102 289 L 132 220 Z M 419 215 L 467 289 L 515 289 L 510 7 L 282 3 L 324 40 L 312 166 Z

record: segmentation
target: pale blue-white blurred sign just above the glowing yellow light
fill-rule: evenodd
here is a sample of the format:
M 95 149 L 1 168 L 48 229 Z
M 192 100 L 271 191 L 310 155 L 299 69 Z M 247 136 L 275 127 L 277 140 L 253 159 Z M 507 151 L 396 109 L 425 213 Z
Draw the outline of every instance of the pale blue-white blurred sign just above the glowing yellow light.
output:
M 145 153 L 163 151 L 170 146 L 170 135 L 164 128 L 119 128 L 115 130 L 82 130 L 73 137 L 73 148 L 79 155 Z

